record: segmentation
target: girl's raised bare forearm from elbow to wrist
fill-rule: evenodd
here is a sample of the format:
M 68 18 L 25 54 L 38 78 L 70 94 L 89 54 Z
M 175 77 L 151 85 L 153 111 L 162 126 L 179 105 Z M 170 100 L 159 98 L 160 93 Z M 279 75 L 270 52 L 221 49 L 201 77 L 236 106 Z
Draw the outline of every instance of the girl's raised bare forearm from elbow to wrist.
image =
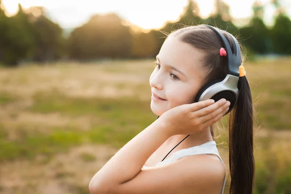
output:
M 89 184 L 91 193 L 107 191 L 134 178 L 146 160 L 171 136 L 169 131 L 158 119 L 137 134 L 95 174 Z

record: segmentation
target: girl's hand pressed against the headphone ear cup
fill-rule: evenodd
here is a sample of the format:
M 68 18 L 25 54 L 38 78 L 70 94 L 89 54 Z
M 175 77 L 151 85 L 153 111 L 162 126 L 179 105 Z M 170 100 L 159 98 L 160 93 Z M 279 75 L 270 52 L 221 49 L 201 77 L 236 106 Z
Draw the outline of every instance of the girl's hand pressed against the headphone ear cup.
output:
M 222 98 L 192 104 L 183 104 L 163 113 L 158 120 L 165 126 L 169 135 L 193 134 L 218 121 L 229 109 L 230 102 Z

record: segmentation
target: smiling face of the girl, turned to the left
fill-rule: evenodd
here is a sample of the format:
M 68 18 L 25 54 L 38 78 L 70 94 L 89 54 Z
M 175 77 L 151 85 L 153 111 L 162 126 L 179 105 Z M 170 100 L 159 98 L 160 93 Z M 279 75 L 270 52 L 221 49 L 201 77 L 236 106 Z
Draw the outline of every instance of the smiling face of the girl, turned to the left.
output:
M 204 83 L 203 53 L 177 37 L 169 35 L 157 55 L 157 66 L 149 78 L 152 92 L 150 107 L 162 113 L 182 104 L 194 103 Z M 153 93 L 164 100 L 157 100 Z

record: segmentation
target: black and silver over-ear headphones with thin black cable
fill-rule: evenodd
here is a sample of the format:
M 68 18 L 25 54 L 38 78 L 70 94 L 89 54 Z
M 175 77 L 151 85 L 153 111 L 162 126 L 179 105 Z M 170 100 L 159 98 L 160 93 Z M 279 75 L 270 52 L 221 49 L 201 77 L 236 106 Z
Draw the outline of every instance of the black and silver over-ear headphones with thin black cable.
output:
M 209 83 L 207 83 L 206 85 L 204 85 L 198 91 L 198 93 L 195 97 L 195 102 L 199 102 L 199 101 L 203 101 L 203 100 L 207 100 L 207 99 L 214 99 L 214 101 L 216 102 L 222 98 L 225 98 L 226 100 L 228 100 L 230 102 L 229 109 L 226 112 L 226 114 L 227 114 L 234 108 L 235 104 L 237 103 L 238 96 L 239 96 L 238 81 L 239 81 L 239 76 L 240 76 L 239 66 L 241 65 L 240 46 L 239 46 L 237 40 L 235 39 L 235 37 L 231 33 L 228 33 L 230 35 L 230 40 L 231 40 L 231 43 L 233 45 L 233 53 L 232 53 L 232 50 L 231 50 L 230 45 L 228 44 L 228 42 L 226 40 L 226 37 L 223 35 L 222 32 L 220 32 L 219 29 L 216 29 L 216 28 L 214 28 L 210 25 L 206 25 L 206 24 L 202 24 L 202 25 L 209 27 L 214 32 L 216 32 L 217 35 L 220 37 L 220 39 L 223 43 L 223 46 L 226 49 L 227 75 L 226 75 L 226 78 L 223 80 L 213 80 L 213 81 L 210 81 Z M 159 118 L 159 116 L 158 116 L 158 118 Z M 188 136 L 186 136 L 182 141 L 184 141 Z M 182 141 L 180 141 L 175 147 L 177 147 Z M 164 157 L 164 159 L 169 155 L 169 153 Z M 162 161 L 164 159 L 162 159 Z

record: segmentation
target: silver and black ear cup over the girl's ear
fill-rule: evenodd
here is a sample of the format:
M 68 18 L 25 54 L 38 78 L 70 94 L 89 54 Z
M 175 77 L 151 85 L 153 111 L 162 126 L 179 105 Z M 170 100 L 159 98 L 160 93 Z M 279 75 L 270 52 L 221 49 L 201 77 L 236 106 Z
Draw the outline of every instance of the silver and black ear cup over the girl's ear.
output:
M 221 98 L 225 98 L 230 102 L 230 106 L 227 111 L 227 113 L 229 113 L 237 103 L 239 95 L 239 89 L 237 87 L 238 81 L 239 77 L 227 74 L 223 81 L 210 85 L 207 89 L 205 89 L 198 101 L 211 98 L 218 101 Z

